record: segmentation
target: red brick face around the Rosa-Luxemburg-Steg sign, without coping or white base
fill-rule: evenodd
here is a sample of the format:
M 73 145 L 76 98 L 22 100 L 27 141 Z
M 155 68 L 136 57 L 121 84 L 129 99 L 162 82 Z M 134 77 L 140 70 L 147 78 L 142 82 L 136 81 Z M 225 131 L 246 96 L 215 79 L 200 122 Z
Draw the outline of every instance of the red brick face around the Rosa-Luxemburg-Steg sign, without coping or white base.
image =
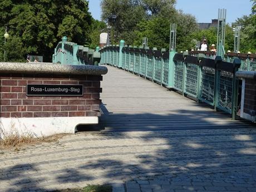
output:
M 100 116 L 102 76 L 0 73 L 0 117 Z M 26 96 L 32 84 L 83 85 L 83 96 Z

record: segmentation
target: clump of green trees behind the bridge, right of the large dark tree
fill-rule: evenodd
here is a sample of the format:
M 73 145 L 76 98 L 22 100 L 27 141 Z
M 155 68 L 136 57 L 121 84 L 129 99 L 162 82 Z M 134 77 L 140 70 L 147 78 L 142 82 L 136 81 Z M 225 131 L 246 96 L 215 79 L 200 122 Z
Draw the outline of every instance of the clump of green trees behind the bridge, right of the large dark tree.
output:
M 175 0 L 103 0 L 102 19 L 109 25 L 112 43 L 122 38 L 128 45 L 169 48 L 170 23 L 177 23 L 177 45 L 198 26 L 195 17 L 175 9 Z

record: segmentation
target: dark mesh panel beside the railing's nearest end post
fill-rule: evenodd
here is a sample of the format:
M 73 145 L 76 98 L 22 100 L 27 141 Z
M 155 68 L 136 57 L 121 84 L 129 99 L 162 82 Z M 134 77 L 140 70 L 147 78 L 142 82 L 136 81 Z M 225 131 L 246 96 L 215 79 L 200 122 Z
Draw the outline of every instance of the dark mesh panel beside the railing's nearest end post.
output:
M 218 85 L 218 106 L 222 110 L 232 112 L 232 82 L 233 73 L 219 71 L 220 81 Z

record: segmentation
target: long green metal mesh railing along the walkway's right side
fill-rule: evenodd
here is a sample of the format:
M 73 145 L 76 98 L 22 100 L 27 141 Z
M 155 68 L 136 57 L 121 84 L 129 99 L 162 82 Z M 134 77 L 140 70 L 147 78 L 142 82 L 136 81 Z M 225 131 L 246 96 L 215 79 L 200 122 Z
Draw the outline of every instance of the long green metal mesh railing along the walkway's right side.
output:
M 119 54 L 116 53 L 118 50 Z M 161 52 L 124 44 L 106 46 L 100 52 L 102 65 L 119 67 L 172 88 L 184 96 L 214 106 L 216 110 L 228 112 L 235 119 L 238 80 L 234 74 L 241 65 L 238 59 L 230 63 L 219 56 Z

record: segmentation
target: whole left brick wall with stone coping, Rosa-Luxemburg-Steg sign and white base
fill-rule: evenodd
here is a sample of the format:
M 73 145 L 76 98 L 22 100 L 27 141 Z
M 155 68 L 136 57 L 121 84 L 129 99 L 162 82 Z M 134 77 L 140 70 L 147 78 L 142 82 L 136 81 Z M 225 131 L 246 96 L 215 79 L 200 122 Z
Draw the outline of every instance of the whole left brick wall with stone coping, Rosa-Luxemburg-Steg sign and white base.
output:
M 102 66 L 0 62 L 0 130 L 48 136 L 97 124 L 106 73 Z

